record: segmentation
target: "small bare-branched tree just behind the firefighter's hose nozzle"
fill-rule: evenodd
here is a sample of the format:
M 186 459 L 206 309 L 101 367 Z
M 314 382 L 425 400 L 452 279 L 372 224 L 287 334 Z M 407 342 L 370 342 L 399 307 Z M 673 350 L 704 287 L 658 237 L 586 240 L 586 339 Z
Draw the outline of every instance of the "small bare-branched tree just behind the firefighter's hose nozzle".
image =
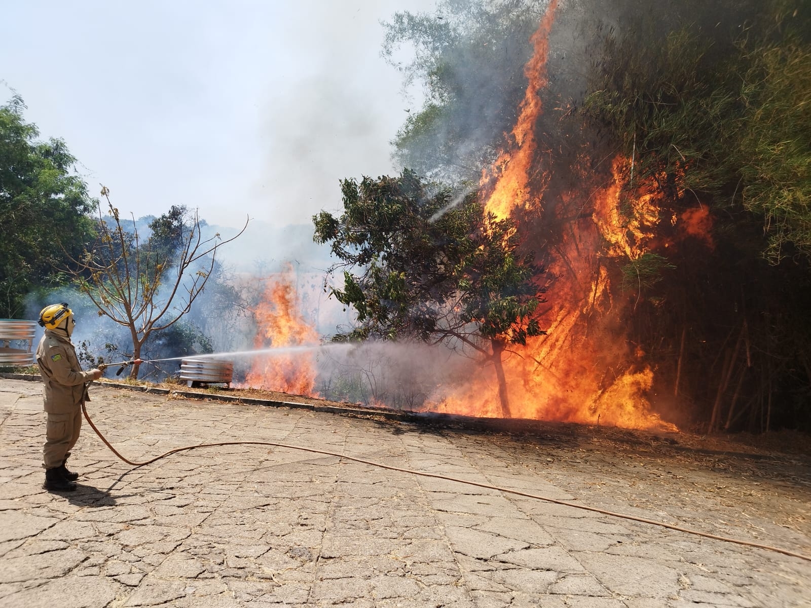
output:
M 196 212 L 187 219 L 185 208 L 173 207 L 150 224 L 152 233 L 139 238 L 133 221 L 132 232 L 124 229 L 118 209 L 102 187 L 112 222 L 99 218 L 97 239 L 78 258 L 65 255 L 79 289 L 98 308 L 99 316 L 113 319 L 129 329 L 132 357 L 140 358 L 141 349 L 153 332 L 166 329 L 191 310 L 214 268 L 217 249 L 234 241 L 220 234 L 204 239 Z M 138 377 L 139 366 L 132 366 L 130 378 Z

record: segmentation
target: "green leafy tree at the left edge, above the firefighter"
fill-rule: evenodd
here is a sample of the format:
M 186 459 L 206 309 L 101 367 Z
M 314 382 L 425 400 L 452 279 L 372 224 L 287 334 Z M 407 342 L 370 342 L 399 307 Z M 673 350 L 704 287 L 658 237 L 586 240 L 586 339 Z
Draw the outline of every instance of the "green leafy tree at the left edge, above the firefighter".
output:
M 37 141 L 25 107 L 19 96 L 0 106 L 0 317 L 21 315 L 33 289 L 64 284 L 62 250 L 78 256 L 94 237 L 97 201 L 75 157 L 62 139 Z

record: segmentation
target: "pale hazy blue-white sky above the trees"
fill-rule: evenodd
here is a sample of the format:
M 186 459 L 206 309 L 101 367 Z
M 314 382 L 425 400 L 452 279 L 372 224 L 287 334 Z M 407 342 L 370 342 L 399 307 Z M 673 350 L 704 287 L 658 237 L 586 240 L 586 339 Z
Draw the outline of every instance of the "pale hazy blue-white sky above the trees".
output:
M 135 216 L 172 204 L 209 224 L 309 224 L 338 180 L 392 171 L 401 78 L 380 20 L 435 0 L 10 2 L 0 103 L 13 88 L 61 137 L 93 195 Z

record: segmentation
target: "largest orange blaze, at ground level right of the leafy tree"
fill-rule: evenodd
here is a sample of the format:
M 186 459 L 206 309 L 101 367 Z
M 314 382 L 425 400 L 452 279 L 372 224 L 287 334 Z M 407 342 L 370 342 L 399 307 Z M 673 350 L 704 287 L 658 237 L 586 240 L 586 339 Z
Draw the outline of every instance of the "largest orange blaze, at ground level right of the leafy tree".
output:
M 605 259 L 637 259 L 654 238 L 660 215 L 652 188 L 629 199 L 628 169 L 627 159 L 615 159 L 613 180 L 590 197 L 591 216 L 574 221 L 556 246 L 549 265 L 556 280 L 541 313 L 547 336 L 512 347 L 503 362 L 513 417 L 677 430 L 650 411 L 646 394 L 654 374 L 640 362 L 644 353 L 617 338 L 621 306 L 611 293 Z M 560 208 L 579 197 L 569 193 Z M 427 409 L 499 417 L 495 373 L 485 367 L 466 387 L 438 387 Z

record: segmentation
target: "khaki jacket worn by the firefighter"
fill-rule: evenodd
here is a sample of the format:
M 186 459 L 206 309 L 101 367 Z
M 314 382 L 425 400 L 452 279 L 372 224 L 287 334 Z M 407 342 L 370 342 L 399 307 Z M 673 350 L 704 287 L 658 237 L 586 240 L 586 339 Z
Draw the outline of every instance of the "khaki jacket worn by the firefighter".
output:
M 42 375 L 46 412 L 71 413 L 79 407 L 83 396 L 89 400 L 84 383 L 90 382 L 93 375 L 82 371 L 76 349 L 67 336 L 46 329 L 36 347 L 36 365 Z

